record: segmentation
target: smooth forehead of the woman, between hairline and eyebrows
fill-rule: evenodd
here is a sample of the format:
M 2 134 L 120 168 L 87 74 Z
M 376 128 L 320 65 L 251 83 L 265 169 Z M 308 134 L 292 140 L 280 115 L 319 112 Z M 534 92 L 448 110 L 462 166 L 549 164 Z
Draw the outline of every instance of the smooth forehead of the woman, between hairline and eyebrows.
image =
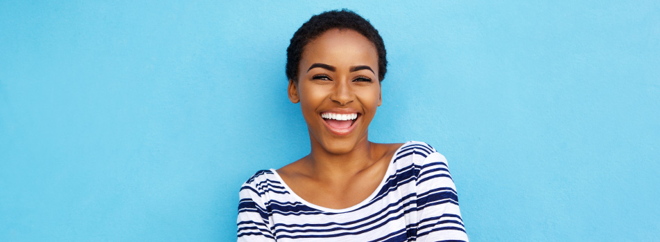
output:
M 299 68 L 317 62 L 337 66 L 361 64 L 377 68 L 378 52 L 367 37 L 355 30 L 331 29 L 305 46 Z

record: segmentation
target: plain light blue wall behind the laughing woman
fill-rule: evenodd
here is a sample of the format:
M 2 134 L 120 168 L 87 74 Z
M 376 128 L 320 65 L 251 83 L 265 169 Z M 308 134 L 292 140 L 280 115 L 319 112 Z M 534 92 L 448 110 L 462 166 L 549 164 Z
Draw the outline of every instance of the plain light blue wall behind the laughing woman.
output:
M 472 241 L 657 241 L 660 1 L 0 1 L 0 241 L 233 241 L 309 152 L 286 46 L 350 8 L 375 142 L 449 159 Z

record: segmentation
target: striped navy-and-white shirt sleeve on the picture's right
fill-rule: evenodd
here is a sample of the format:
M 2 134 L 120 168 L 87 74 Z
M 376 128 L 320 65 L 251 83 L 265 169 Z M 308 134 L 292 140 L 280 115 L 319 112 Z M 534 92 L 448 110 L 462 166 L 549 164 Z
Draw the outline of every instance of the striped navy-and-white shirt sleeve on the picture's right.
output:
M 429 153 L 416 182 L 417 241 L 469 241 L 444 156 L 435 150 Z

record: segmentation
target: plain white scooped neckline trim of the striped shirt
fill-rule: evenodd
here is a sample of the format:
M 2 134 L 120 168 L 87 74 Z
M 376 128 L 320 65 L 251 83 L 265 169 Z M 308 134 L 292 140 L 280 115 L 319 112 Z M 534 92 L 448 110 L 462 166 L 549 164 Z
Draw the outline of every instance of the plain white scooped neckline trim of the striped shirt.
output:
M 385 182 L 388 180 L 388 177 L 390 177 L 390 175 L 392 174 L 392 163 L 394 162 L 394 158 L 397 157 L 397 153 L 399 153 L 399 151 L 401 151 L 401 148 L 406 147 L 406 145 L 408 145 L 410 142 L 412 142 L 412 141 L 408 141 L 408 142 L 403 143 L 403 145 L 401 145 L 401 147 L 399 147 L 399 149 L 397 149 L 397 151 L 394 151 L 394 155 L 390 159 L 390 163 L 388 164 L 388 169 L 387 169 L 387 171 L 385 171 L 385 176 L 383 176 L 383 179 L 381 180 L 381 184 L 379 184 L 378 187 L 376 187 L 376 189 L 374 190 L 374 192 L 372 192 L 371 195 L 369 195 L 367 198 L 365 198 L 365 200 L 361 201 L 360 203 L 358 203 L 356 205 L 352 205 L 351 207 L 346 207 L 346 208 L 342 208 L 342 209 L 333 209 L 333 208 L 329 208 L 329 207 L 322 207 L 322 206 L 315 205 L 313 203 L 310 203 L 310 202 L 304 200 L 303 198 L 298 196 L 298 194 L 295 194 L 295 192 L 293 192 L 293 190 L 290 187 L 288 187 L 288 185 L 286 185 L 286 183 L 284 183 L 284 180 L 281 178 L 281 176 L 279 176 L 279 174 L 277 173 L 277 170 L 271 168 L 270 171 L 272 171 L 272 174 L 275 174 L 275 178 L 277 178 L 277 181 L 279 181 L 279 183 L 281 183 L 282 187 L 284 187 L 286 192 L 288 192 L 291 196 L 293 196 L 293 198 L 295 198 L 295 200 L 297 202 L 300 202 L 300 203 L 302 203 L 302 204 L 304 204 L 308 207 L 312 207 L 316 210 L 321 210 L 322 212 L 332 212 L 332 213 L 349 212 L 349 211 L 352 211 L 352 210 L 356 210 L 359 207 L 362 207 L 363 205 L 369 203 L 370 201 L 372 201 L 374 199 L 376 194 L 378 194 L 378 192 L 383 188 L 383 185 L 385 185 Z

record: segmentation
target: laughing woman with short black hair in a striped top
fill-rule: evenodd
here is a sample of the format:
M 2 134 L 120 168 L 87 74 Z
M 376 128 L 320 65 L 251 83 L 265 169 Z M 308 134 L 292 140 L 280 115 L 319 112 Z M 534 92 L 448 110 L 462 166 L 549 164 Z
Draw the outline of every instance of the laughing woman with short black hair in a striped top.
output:
M 243 184 L 238 241 L 467 241 L 444 156 L 367 140 L 386 66 L 383 39 L 354 12 L 323 12 L 295 32 L 288 96 L 311 152 Z

